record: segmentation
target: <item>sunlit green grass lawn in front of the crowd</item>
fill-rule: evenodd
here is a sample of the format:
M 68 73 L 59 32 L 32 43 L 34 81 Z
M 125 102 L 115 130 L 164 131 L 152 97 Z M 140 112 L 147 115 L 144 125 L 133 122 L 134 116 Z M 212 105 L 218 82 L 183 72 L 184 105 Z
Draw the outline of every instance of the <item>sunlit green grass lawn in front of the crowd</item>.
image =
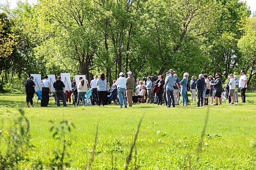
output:
M 7 151 L 8 129 L 25 107 L 24 94 L 0 94 L 1 136 L 0 154 Z M 241 98 L 240 98 L 241 100 Z M 32 147 L 26 153 L 28 161 L 19 162 L 17 169 L 34 169 L 41 162 L 50 169 L 55 151 L 63 142 L 52 137 L 52 123 L 71 120 L 75 125 L 68 140 L 65 162 L 69 169 L 88 166 L 94 148 L 96 125 L 98 141 L 91 169 L 124 169 L 131 144 L 143 116 L 140 131 L 128 169 L 255 169 L 255 113 L 256 93 L 247 93 L 247 104 L 209 106 L 209 118 L 203 135 L 202 150 L 198 143 L 204 128 L 208 107 L 165 108 L 153 104 L 139 104 L 118 109 L 86 106 L 67 108 L 51 105 L 48 108 L 24 108 L 30 122 Z M 208 134 L 208 135 L 207 135 Z

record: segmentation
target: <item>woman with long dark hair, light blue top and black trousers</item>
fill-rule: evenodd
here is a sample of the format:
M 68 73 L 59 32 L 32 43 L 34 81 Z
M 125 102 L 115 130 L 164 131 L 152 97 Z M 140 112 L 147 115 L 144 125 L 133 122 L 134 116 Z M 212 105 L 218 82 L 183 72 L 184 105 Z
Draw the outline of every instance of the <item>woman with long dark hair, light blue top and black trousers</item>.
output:
M 100 104 L 102 102 L 103 107 L 107 104 L 107 91 L 108 91 L 108 84 L 106 83 L 105 75 L 102 72 L 99 75 L 99 79 L 97 80 L 97 90 L 98 90 L 98 106 L 100 107 Z

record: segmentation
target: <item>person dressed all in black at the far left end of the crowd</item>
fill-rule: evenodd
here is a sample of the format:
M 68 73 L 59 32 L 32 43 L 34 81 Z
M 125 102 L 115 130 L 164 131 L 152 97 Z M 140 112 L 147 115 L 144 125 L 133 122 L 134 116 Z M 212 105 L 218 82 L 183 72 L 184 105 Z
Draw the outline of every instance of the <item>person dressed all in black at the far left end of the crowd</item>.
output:
M 33 106 L 33 97 L 35 93 L 35 83 L 34 83 L 34 77 L 31 76 L 28 78 L 28 80 L 25 83 L 25 88 L 26 88 L 26 102 L 27 102 L 27 107 L 34 107 Z M 29 106 L 30 103 L 30 106 Z

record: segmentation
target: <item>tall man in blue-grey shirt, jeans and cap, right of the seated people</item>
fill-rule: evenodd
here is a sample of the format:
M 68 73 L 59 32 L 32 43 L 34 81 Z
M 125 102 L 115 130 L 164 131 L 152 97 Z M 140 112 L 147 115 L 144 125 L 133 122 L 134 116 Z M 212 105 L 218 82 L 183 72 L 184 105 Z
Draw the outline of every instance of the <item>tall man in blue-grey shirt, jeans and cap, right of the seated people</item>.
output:
M 170 103 L 172 102 L 173 107 L 175 107 L 175 100 L 174 100 L 174 71 L 173 69 L 169 70 L 170 75 L 167 77 L 165 84 L 166 84 L 166 99 L 167 99 L 167 107 L 170 107 Z M 172 101 L 171 101 L 172 99 Z

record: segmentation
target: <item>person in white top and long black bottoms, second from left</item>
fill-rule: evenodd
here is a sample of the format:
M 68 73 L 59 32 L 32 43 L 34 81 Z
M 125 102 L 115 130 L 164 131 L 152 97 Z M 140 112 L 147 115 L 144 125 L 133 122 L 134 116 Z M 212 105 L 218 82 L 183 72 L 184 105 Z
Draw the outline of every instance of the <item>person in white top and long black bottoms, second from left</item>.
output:
M 48 107 L 50 87 L 51 87 L 51 83 L 50 83 L 50 80 L 48 80 L 48 76 L 46 75 L 44 77 L 44 80 L 42 80 L 41 107 Z

